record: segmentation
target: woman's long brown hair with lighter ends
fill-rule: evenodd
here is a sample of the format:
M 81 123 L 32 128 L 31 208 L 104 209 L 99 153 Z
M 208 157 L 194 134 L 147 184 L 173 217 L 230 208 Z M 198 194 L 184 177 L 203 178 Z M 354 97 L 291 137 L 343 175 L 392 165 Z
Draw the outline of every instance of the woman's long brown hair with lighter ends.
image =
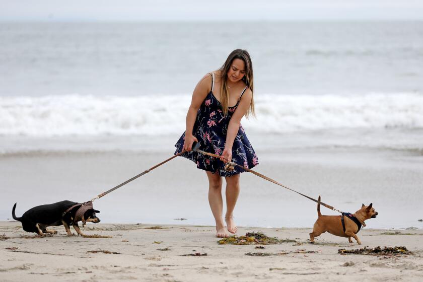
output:
M 254 93 L 253 64 L 251 62 L 250 54 L 247 52 L 247 50 L 242 50 L 242 49 L 233 50 L 229 54 L 225 63 L 221 66 L 221 68 L 218 69 L 218 71 L 220 71 L 220 74 L 221 74 L 221 82 L 222 82 L 221 89 L 220 89 L 220 100 L 222 104 L 223 113 L 225 115 L 228 114 L 228 107 L 229 107 L 229 92 L 228 92 L 228 86 L 227 86 L 228 72 L 234 59 L 241 59 L 244 61 L 245 75 L 242 78 L 242 80 L 247 85 L 247 87 L 251 90 L 251 93 Z M 248 108 L 245 116 L 248 118 L 250 115 L 255 116 L 253 96 L 251 97 L 250 107 Z

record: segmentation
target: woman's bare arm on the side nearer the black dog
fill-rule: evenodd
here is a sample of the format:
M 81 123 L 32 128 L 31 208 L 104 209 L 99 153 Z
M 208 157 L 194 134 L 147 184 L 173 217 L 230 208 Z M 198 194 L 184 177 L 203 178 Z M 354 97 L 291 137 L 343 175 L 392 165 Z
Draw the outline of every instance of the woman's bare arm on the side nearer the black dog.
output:
M 189 105 L 188 113 L 186 114 L 186 129 L 185 129 L 185 141 L 184 150 L 191 151 L 192 143 L 198 142 L 197 138 L 192 135 L 192 128 L 194 127 L 195 118 L 197 116 L 198 108 L 207 96 L 210 87 L 212 85 L 212 77 L 205 75 L 195 86 L 194 92 L 192 93 L 191 105 Z

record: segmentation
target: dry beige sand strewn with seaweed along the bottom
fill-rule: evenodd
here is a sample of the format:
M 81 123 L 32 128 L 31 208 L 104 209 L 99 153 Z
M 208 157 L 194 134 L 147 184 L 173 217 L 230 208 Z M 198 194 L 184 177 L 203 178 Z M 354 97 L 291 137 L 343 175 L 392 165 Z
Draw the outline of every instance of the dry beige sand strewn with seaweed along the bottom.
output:
M 423 230 L 364 229 L 363 245 L 323 234 L 308 243 L 311 229 L 261 229 L 267 236 L 292 239 L 277 245 L 219 245 L 214 227 L 88 224 L 86 234 L 112 238 L 34 235 L 18 222 L 0 222 L 1 281 L 421 281 Z M 239 228 L 238 235 L 260 229 Z M 389 235 L 394 234 L 394 235 Z M 18 237 L 18 238 L 10 238 Z M 413 254 L 376 256 L 338 254 L 338 249 L 405 246 Z M 12 249 L 7 249 L 12 248 Z M 16 249 L 14 249 L 16 248 Z M 158 249 L 169 250 L 163 251 Z M 90 251 L 106 251 L 92 253 Z M 311 253 L 309 251 L 312 251 Z M 111 252 L 111 253 L 107 253 Z M 116 252 L 116 253 L 113 253 Z M 248 256 L 248 252 L 273 253 Z M 206 253 L 204 256 L 182 256 Z

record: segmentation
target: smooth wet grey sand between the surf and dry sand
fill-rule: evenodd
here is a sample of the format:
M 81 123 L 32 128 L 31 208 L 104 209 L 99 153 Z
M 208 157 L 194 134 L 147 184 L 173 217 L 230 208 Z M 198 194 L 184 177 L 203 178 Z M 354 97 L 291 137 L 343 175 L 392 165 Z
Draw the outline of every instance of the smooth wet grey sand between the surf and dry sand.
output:
M 172 156 L 166 152 L 32 152 L 0 157 L 0 221 L 62 200 L 84 202 Z M 373 202 L 368 228 L 423 228 L 423 158 L 395 152 L 275 150 L 254 168 L 344 212 Z M 225 189 L 225 182 L 223 190 Z M 94 202 L 102 223 L 213 225 L 204 171 L 178 157 Z M 395 208 L 392 208 L 395 207 Z M 225 212 L 225 211 L 224 211 Z M 324 215 L 336 212 L 322 207 Z M 309 227 L 316 203 L 248 172 L 234 211 L 240 226 Z

